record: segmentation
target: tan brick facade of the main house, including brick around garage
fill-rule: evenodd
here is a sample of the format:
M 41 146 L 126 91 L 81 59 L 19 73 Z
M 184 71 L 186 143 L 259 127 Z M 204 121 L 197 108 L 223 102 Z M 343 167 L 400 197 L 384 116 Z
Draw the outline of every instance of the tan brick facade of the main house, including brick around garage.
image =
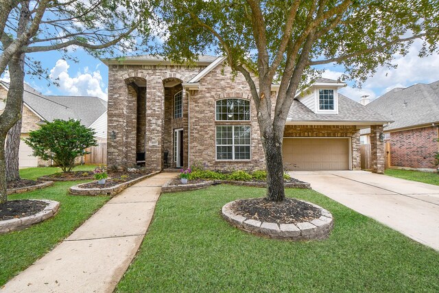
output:
M 169 152 L 169 167 L 174 167 L 174 130 L 182 128 L 185 167 L 194 163 L 203 163 L 211 169 L 262 169 L 265 167 L 257 113 L 251 99 L 250 89 L 244 76 L 241 74 L 233 76 L 229 67 L 218 65 L 206 74 L 200 80 L 198 91 L 183 91 L 183 117 L 174 119 L 174 95 L 182 90 L 182 86 L 178 84 L 165 88 L 164 83 L 187 82 L 203 68 L 177 65 L 109 66 L 107 153 L 109 166 L 134 165 L 136 163 L 135 152 L 144 143 L 147 168 L 162 169 L 165 150 Z M 136 113 L 141 108 L 136 105 L 136 93 L 128 85 L 134 80 L 146 82 L 145 118 Z M 250 121 L 215 121 L 215 102 L 227 97 L 238 97 L 250 101 Z M 140 123 L 139 119 L 145 119 L 145 123 Z M 251 126 L 250 160 L 216 160 L 215 129 L 218 125 L 227 124 Z M 294 130 L 296 128 L 300 130 Z M 141 141 L 139 134 L 136 134 L 136 131 L 143 131 L 143 129 L 146 133 L 146 141 Z M 285 136 L 349 137 L 351 138 L 352 168 L 361 169 L 359 130 L 356 126 L 287 126 Z

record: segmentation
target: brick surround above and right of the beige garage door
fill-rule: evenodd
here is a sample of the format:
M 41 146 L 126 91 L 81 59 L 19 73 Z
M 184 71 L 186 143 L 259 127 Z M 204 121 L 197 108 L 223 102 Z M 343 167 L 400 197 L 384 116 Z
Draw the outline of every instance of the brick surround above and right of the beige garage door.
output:
M 287 125 L 284 137 L 349 137 L 351 138 L 352 169 L 361 169 L 359 130 L 356 126 Z

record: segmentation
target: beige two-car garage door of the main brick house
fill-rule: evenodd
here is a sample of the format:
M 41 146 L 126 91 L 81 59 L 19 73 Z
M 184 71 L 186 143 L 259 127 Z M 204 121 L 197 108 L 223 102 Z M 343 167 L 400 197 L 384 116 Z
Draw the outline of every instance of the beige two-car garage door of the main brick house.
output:
M 284 138 L 283 161 L 293 170 L 348 170 L 349 145 L 349 138 Z

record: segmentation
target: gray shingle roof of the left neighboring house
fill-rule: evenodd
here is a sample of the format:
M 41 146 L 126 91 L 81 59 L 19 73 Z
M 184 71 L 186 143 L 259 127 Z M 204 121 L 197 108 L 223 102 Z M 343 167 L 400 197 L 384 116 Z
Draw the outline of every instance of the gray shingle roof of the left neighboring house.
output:
M 43 95 L 29 84 L 24 84 L 23 102 L 44 120 L 77 119 L 86 127 L 107 110 L 107 102 L 99 97 Z

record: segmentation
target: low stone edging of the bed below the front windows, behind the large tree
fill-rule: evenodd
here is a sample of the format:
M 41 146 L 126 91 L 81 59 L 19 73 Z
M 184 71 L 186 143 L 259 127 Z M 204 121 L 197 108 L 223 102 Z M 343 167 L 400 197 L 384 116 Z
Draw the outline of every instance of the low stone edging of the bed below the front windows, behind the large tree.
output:
M 162 187 L 163 194 L 169 192 L 179 192 L 179 191 L 189 191 L 195 189 L 202 189 L 205 187 L 209 187 L 211 185 L 217 184 L 230 184 L 230 185 L 238 185 L 238 186 L 249 186 L 249 187 L 266 187 L 267 183 L 265 182 L 248 182 L 248 181 L 233 181 L 233 180 L 210 180 L 204 181 L 202 183 L 189 183 L 189 184 L 181 184 L 181 185 L 171 185 L 172 181 L 165 183 Z M 309 183 L 285 183 L 284 186 L 286 188 L 303 188 L 303 189 L 311 189 L 311 185 Z

